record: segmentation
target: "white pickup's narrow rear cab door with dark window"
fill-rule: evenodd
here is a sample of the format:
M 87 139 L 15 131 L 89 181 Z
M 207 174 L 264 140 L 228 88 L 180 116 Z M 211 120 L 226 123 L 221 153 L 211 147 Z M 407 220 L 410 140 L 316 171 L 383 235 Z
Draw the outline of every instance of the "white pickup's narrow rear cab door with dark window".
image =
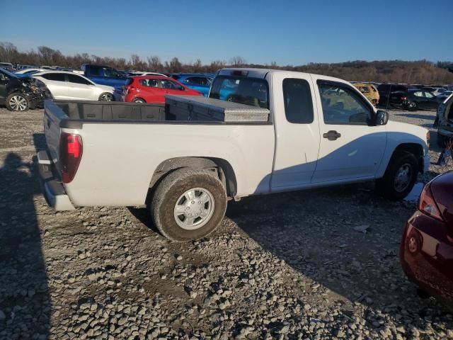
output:
M 275 160 L 271 191 L 310 183 L 319 152 L 319 119 L 309 74 L 272 75 Z

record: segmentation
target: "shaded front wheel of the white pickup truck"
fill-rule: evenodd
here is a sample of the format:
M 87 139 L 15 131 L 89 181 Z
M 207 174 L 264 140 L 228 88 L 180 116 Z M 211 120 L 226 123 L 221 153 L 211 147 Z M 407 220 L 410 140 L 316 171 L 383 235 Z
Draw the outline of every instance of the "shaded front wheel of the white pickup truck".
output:
M 411 192 L 418 176 L 418 162 L 413 154 L 398 153 L 391 157 L 382 179 L 377 179 L 376 189 L 386 198 L 401 200 Z

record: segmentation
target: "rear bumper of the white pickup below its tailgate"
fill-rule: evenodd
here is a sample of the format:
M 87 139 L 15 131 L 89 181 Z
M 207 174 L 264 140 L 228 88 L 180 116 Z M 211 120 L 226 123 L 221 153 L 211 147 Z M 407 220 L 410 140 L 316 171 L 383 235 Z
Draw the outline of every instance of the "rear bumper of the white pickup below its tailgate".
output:
M 46 151 L 38 152 L 38 170 L 47 204 L 58 211 L 74 210 L 74 205 L 64 191 L 62 182 L 58 181 L 52 173 L 52 162 Z

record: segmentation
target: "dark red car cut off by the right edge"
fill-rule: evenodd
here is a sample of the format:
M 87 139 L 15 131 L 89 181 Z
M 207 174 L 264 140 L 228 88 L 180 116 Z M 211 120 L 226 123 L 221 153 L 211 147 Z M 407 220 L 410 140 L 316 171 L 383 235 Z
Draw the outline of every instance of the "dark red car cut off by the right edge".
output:
M 453 171 L 423 188 L 404 229 L 400 259 L 421 290 L 453 307 Z

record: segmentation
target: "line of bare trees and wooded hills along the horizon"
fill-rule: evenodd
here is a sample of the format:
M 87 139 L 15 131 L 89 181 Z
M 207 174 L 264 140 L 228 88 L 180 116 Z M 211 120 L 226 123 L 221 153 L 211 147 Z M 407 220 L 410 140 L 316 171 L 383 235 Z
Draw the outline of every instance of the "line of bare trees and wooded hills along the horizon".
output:
M 88 53 L 76 55 L 63 55 L 59 50 L 51 47 L 40 46 L 37 50 L 28 52 L 19 51 L 11 42 L 0 42 L 0 62 L 12 62 L 16 64 L 33 64 L 71 67 L 80 69 L 81 64 L 104 64 L 122 70 L 137 70 L 148 72 L 193 72 L 212 73 L 222 67 L 257 67 L 286 69 L 289 71 L 309 72 L 338 77 L 348 81 L 377 81 L 396 82 L 408 84 L 453 84 L 453 73 L 445 69 L 452 62 L 430 62 L 419 60 L 407 62 L 402 60 L 385 61 L 351 61 L 333 64 L 309 63 L 299 66 L 271 64 L 251 64 L 242 57 L 233 57 L 228 62 L 215 60 L 210 64 L 202 64 L 198 59 L 195 62 L 183 63 L 178 57 L 168 61 L 162 61 L 159 56 L 151 55 L 146 59 L 132 54 L 130 59 L 122 57 L 99 57 Z

